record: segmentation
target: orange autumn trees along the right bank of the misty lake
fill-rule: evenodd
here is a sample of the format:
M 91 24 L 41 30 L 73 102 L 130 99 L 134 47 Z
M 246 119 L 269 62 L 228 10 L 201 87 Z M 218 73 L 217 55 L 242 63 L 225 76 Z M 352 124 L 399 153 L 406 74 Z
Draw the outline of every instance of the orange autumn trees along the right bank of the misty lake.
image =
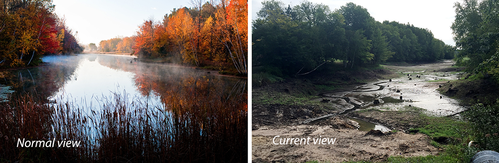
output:
M 248 74 L 248 1 L 203 2 L 174 8 L 162 21 L 144 20 L 134 36 L 103 40 L 99 49 Z

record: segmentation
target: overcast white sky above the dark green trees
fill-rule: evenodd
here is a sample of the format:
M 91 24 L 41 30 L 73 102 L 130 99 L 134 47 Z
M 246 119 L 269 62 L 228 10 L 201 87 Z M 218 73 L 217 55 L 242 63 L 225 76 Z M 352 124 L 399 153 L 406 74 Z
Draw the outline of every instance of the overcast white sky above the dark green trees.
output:
M 261 1 L 251 0 L 252 19 L 261 8 Z M 302 0 L 281 0 L 284 4 L 297 5 Z M 454 3 L 458 0 L 308 0 L 313 3 L 328 5 L 331 11 L 348 2 L 354 2 L 367 8 L 376 21 L 398 21 L 414 24 L 416 27 L 428 28 L 435 38 L 446 44 L 455 45 L 452 39 L 451 25 L 454 21 Z M 459 0 L 462 2 L 462 0 Z

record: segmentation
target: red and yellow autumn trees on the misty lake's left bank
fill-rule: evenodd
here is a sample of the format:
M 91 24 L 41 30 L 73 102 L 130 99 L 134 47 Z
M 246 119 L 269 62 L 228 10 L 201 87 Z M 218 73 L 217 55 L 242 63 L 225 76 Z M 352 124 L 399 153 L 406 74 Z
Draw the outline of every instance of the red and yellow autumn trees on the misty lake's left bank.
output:
M 0 0 L 0 67 L 36 66 L 47 54 L 83 51 L 52 0 Z

